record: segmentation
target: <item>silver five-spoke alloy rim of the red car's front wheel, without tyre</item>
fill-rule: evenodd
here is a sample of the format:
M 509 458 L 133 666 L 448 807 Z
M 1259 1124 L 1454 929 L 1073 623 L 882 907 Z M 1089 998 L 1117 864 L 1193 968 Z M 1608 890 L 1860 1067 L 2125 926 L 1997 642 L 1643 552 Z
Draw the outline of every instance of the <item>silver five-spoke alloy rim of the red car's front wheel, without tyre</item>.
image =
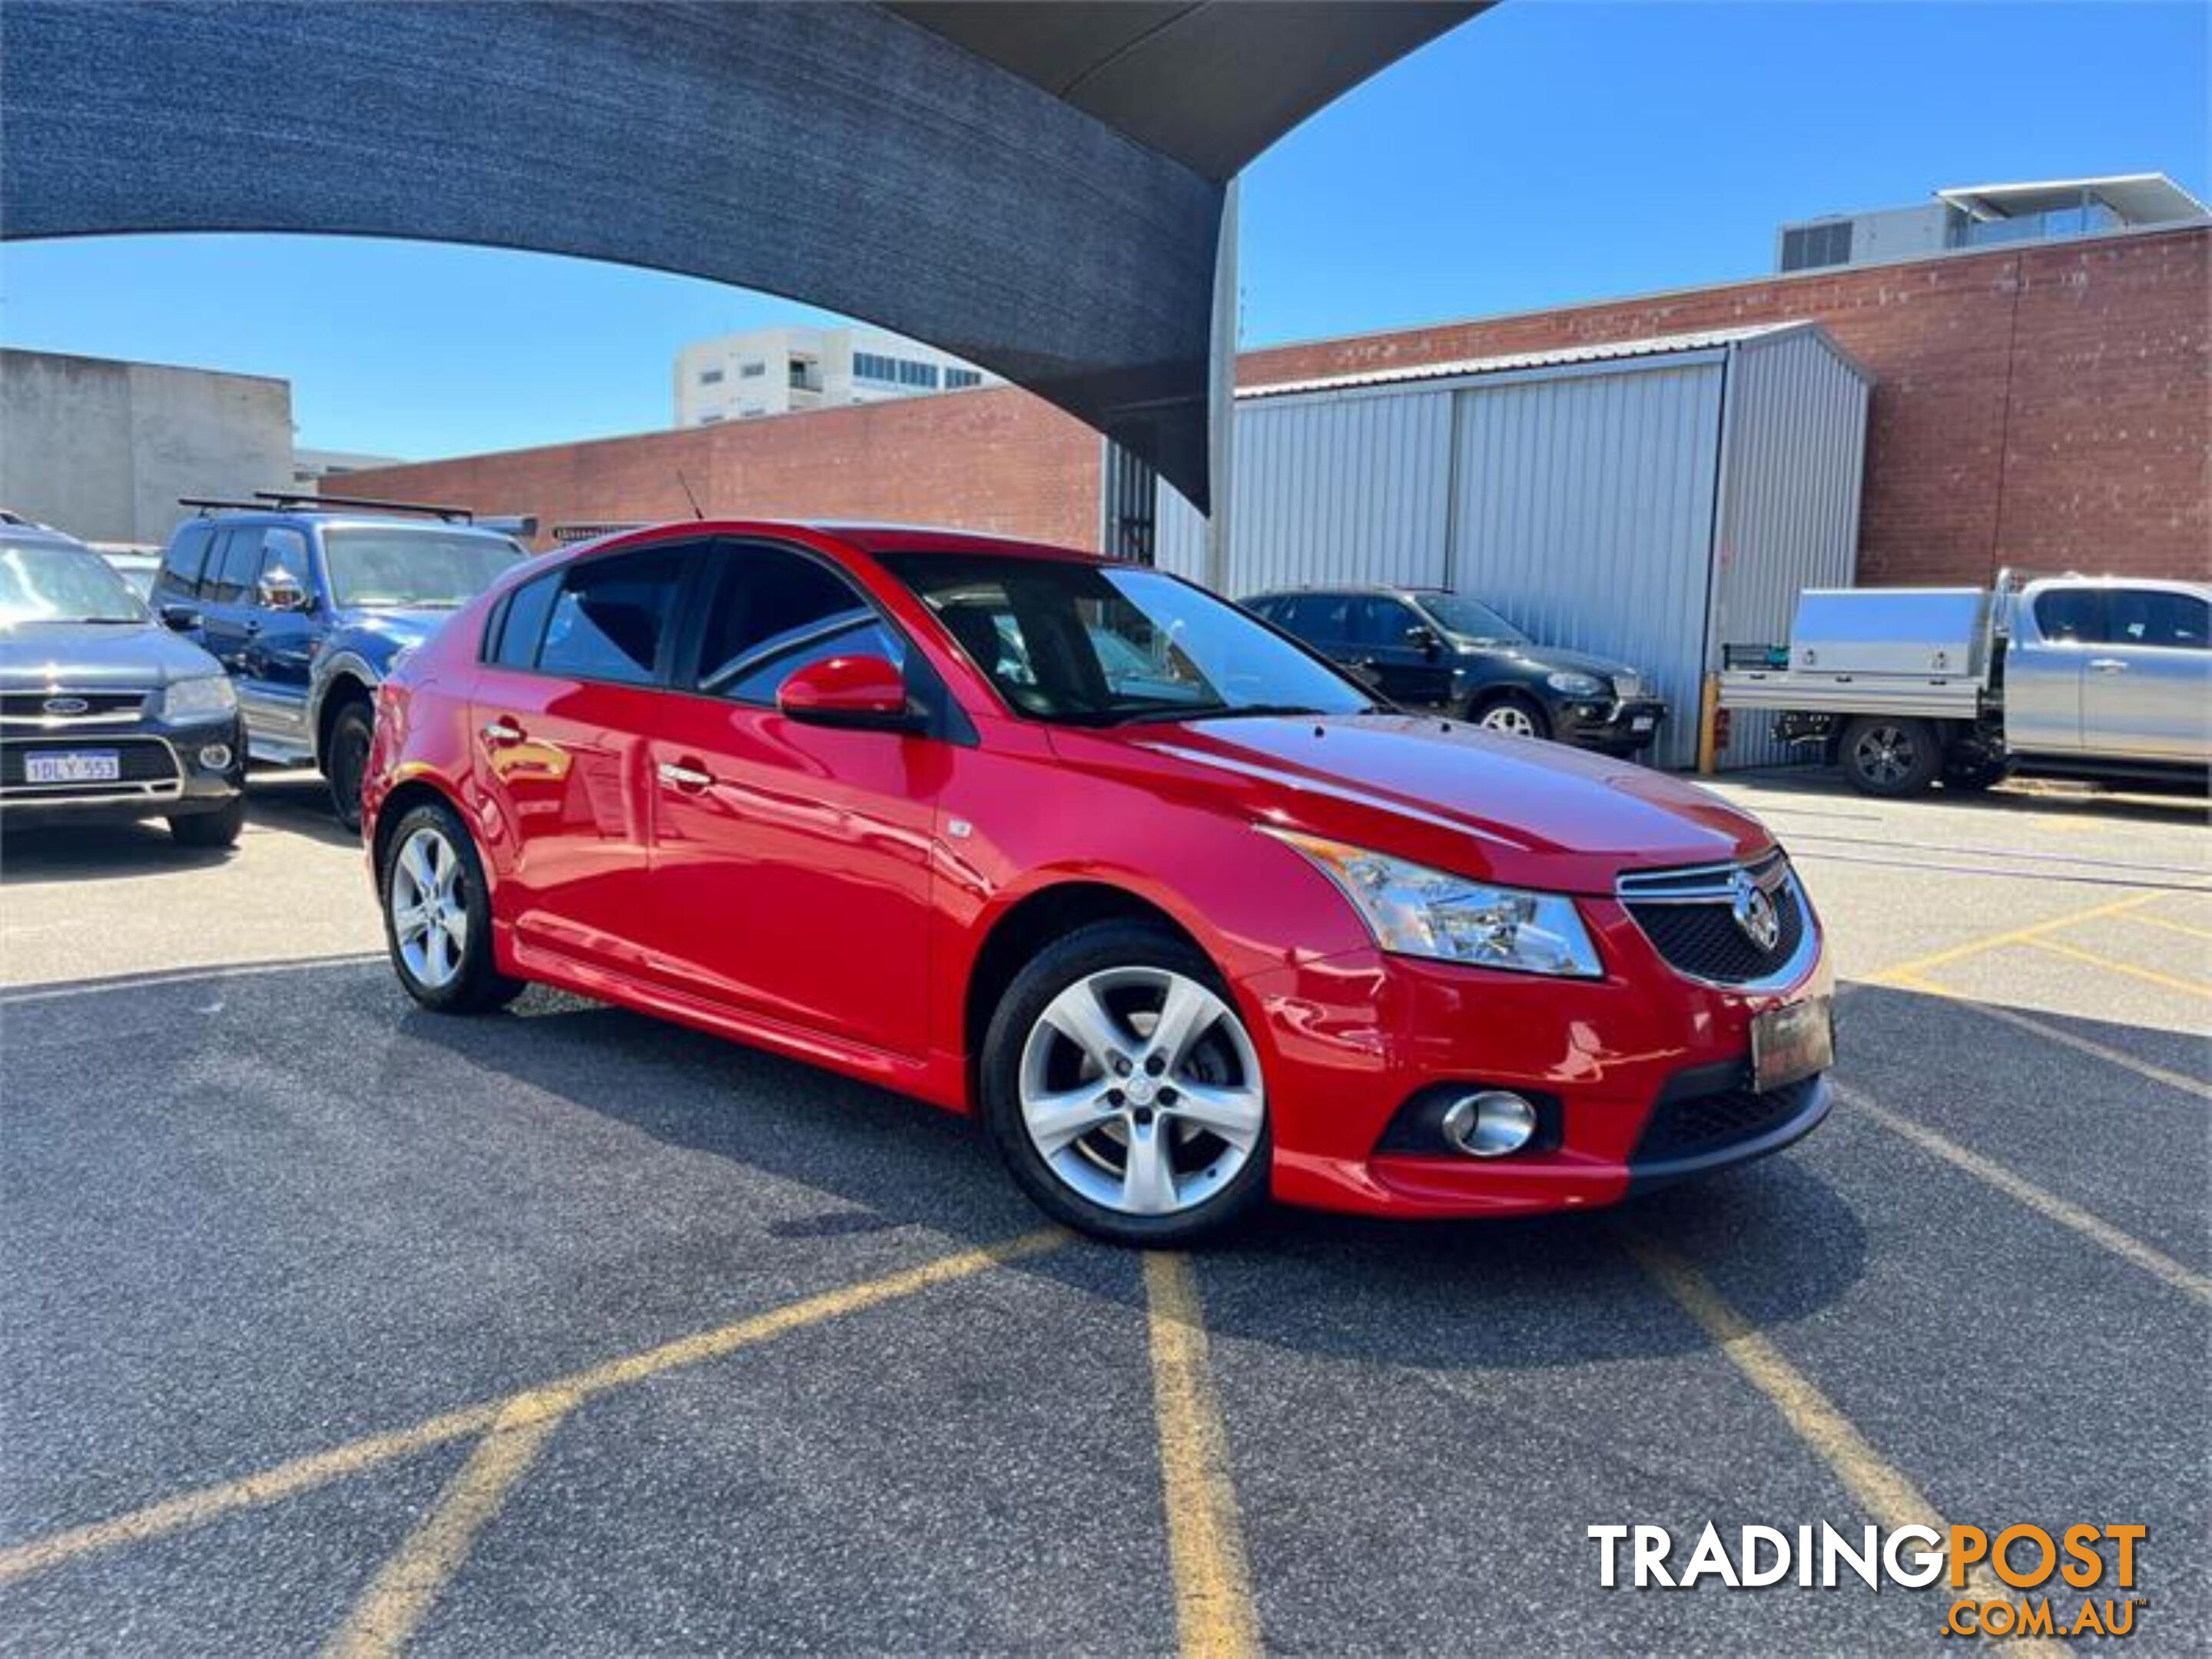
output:
M 1267 1124 L 1243 1022 L 1197 980 L 1091 973 L 1022 1044 L 1022 1126 L 1062 1186 L 1121 1214 L 1181 1214 L 1221 1192 Z

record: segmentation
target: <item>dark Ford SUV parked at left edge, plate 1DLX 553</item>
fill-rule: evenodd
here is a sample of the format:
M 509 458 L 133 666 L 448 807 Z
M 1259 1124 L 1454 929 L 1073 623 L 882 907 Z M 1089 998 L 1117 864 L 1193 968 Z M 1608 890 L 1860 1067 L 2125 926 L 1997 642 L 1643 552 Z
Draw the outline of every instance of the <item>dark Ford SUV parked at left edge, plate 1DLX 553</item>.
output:
M 161 628 L 82 542 L 0 526 L 0 821 L 246 823 L 246 728 L 221 664 Z

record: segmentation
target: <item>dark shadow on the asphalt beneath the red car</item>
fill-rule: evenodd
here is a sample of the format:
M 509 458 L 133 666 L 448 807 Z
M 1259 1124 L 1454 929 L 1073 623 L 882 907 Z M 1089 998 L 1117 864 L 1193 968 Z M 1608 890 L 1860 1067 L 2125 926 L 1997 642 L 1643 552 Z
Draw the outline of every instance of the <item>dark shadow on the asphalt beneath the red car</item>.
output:
M 911 1225 L 991 1243 L 1042 1223 L 969 1119 L 801 1062 L 542 989 L 511 1018 L 407 1013 L 403 1026 L 469 1066 L 823 1192 L 823 1212 L 781 1237 Z M 1223 1336 L 1398 1365 L 1555 1367 L 1703 1347 L 1690 1321 L 1652 1316 L 1626 1239 L 1714 1228 L 1787 1263 L 1761 1303 L 1776 1321 L 1840 1296 L 1867 1250 L 1849 1206 L 1783 1155 L 1610 1212 L 1385 1223 L 1274 1206 L 1197 1254 Z M 1015 1270 L 1141 1305 L 1135 1274 L 1097 1272 L 1099 1250 Z

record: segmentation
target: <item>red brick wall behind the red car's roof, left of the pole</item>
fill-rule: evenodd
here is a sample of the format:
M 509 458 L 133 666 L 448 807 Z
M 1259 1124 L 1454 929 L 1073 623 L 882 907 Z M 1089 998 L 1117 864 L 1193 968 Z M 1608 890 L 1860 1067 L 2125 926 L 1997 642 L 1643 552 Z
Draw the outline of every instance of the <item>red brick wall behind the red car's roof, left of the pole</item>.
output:
M 690 518 L 686 482 L 712 518 L 956 524 L 1097 546 L 1097 434 L 1011 387 L 363 469 L 327 489 L 535 513 L 551 533 Z

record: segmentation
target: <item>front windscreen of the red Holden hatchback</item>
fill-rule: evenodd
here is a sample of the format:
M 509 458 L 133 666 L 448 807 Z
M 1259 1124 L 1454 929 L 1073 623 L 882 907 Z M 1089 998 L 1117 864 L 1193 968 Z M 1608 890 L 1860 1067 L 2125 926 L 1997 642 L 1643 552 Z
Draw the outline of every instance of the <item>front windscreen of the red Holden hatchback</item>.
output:
M 1141 566 L 887 553 L 1018 714 L 1068 726 L 1358 714 L 1374 701 L 1243 611 Z

